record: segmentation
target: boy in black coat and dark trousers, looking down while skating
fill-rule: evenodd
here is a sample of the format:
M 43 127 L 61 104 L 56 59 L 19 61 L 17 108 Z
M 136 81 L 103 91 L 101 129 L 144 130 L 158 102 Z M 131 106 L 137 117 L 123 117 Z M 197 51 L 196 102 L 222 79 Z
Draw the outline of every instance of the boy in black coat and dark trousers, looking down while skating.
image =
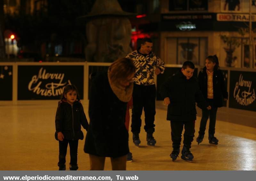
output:
M 194 156 L 189 149 L 195 133 L 196 102 L 200 102 L 200 105 L 211 109 L 204 100 L 196 77 L 193 77 L 194 70 L 195 65 L 186 61 L 182 65 L 181 72 L 170 77 L 160 87 L 164 104 L 168 105 L 167 120 L 171 122 L 173 151 L 170 156 L 172 161 L 175 161 L 180 153 L 181 133 L 184 126 L 181 158 L 192 162 Z

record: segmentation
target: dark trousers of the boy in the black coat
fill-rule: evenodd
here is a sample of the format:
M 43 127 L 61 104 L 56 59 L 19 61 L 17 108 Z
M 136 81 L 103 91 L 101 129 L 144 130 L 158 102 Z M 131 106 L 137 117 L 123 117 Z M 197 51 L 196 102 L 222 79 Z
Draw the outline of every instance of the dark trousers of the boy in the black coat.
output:
M 195 136 L 195 121 L 190 122 L 172 122 L 171 121 L 171 136 L 172 136 L 172 147 L 180 148 L 181 134 L 185 128 L 183 145 L 189 150 L 191 148 L 191 143 Z

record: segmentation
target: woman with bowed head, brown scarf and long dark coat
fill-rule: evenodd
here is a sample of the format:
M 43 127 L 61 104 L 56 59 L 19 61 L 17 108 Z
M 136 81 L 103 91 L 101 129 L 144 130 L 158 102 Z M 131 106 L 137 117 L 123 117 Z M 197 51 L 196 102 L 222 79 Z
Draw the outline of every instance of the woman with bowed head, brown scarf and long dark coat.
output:
M 106 157 L 110 157 L 112 170 L 126 170 L 129 147 L 125 116 L 127 102 L 132 98 L 134 72 L 132 60 L 120 58 L 108 72 L 92 78 L 90 125 L 84 144 L 91 170 L 104 170 Z

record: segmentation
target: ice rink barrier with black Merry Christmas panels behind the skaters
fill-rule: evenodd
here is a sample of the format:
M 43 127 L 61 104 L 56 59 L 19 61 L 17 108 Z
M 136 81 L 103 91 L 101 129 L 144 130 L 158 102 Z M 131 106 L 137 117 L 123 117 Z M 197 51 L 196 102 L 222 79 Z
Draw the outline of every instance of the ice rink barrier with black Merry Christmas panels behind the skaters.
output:
M 61 88 L 63 89 L 68 83 L 75 84 L 83 101 L 88 102 L 90 76 L 93 72 L 106 71 L 110 64 L 93 62 L 0 63 L 0 105 L 36 104 L 46 100 L 59 100 Z M 181 65 L 165 64 L 165 67 L 164 74 L 155 76 L 157 100 L 162 100 L 158 93 L 161 83 L 177 72 Z M 229 93 L 229 99 L 227 102 L 224 102 L 224 106 L 227 108 L 256 111 L 256 69 L 222 67 L 221 70 Z M 199 71 L 200 67 L 196 66 L 195 75 Z M 33 84 L 33 81 L 36 83 Z M 35 89 L 33 88 L 39 82 L 41 83 L 36 89 L 38 92 L 34 92 Z M 45 86 L 50 87 L 52 91 L 48 90 L 48 93 L 44 92 L 45 95 L 40 96 L 39 94 L 48 89 Z

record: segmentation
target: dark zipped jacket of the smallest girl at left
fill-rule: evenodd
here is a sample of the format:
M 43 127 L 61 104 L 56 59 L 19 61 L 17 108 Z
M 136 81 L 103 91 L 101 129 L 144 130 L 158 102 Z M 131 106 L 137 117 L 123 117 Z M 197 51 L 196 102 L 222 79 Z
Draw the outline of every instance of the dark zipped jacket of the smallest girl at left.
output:
M 84 114 L 81 102 L 74 102 L 71 106 L 66 99 L 59 101 L 55 117 L 55 139 L 58 140 L 58 132 L 62 132 L 66 140 L 83 140 L 84 134 L 81 131 L 81 124 L 87 131 L 89 124 Z

